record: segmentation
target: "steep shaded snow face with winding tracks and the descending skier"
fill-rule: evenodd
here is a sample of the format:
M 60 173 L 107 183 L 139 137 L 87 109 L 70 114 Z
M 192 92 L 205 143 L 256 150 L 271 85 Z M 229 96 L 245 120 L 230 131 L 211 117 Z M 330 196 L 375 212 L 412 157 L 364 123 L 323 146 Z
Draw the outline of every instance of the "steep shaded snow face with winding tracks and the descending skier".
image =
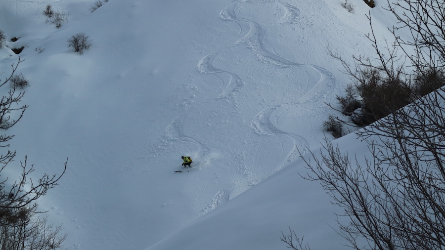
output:
M 11 149 L 36 176 L 69 158 L 41 207 L 72 249 L 149 247 L 318 147 L 325 102 L 348 83 L 328 50 L 370 49 L 367 8 L 353 15 L 324 0 L 109 0 L 92 13 L 95 0 L 0 2 L 0 28 L 20 37 L 0 50 L 1 72 L 18 60 L 10 48 L 25 46 L 19 70 L 31 82 Z M 48 3 L 69 15 L 59 29 L 45 22 Z M 83 55 L 66 46 L 80 32 L 93 42 Z M 181 155 L 190 172 L 174 172 Z M 294 189 L 274 180 L 273 196 Z M 312 187 L 302 192 L 326 210 L 311 216 L 331 214 Z M 286 201 L 270 206 L 299 216 L 306 202 Z M 246 193 L 231 206 L 254 202 Z M 270 241 L 292 226 L 283 216 Z

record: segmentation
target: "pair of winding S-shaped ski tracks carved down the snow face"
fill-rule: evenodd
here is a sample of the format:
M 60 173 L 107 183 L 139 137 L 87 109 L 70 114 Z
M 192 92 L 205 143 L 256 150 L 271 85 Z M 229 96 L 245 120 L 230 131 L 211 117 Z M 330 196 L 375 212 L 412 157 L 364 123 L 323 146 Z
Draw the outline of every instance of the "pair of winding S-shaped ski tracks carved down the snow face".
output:
M 278 12 L 282 12 L 282 16 L 277 18 L 277 21 L 263 28 L 261 24 L 256 21 L 250 20 L 249 18 L 238 16 L 236 8 L 240 8 L 240 4 L 274 4 L 275 5 L 275 15 L 279 14 Z M 295 6 L 292 6 L 288 3 L 277 1 L 277 0 L 237 0 L 234 3 L 228 5 L 220 12 L 220 18 L 223 21 L 235 22 L 239 28 L 240 32 L 235 42 L 227 47 L 223 47 L 218 49 L 214 53 L 210 53 L 203 57 L 197 64 L 197 70 L 201 74 L 214 75 L 221 81 L 221 86 L 217 89 L 215 93 L 215 97 L 210 100 L 205 100 L 203 103 L 195 104 L 194 107 L 189 107 L 187 109 L 187 113 L 192 112 L 193 109 L 198 108 L 202 105 L 206 105 L 209 102 L 217 102 L 221 99 L 232 99 L 234 103 L 236 103 L 236 92 L 238 92 L 244 85 L 245 82 L 241 77 L 233 72 L 229 72 L 223 69 L 219 69 L 214 66 L 214 63 L 219 60 L 219 58 L 223 57 L 225 54 L 228 54 L 229 51 L 232 51 L 234 48 L 243 46 L 250 48 L 257 59 L 263 62 L 266 65 L 270 65 L 277 68 L 299 68 L 303 69 L 308 74 L 308 83 L 301 91 L 301 96 L 295 102 L 285 102 L 277 105 L 270 105 L 263 110 L 261 110 L 251 121 L 250 127 L 260 136 L 286 136 L 288 137 L 292 143 L 293 148 L 289 151 L 287 156 L 279 163 L 272 171 L 268 173 L 264 173 L 259 178 L 251 178 L 248 181 L 232 184 L 221 189 L 207 206 L 202 208 L 201 215 L 217 208 L 221 204 L 226 201 L 232 199 L 239 193 L 244 192 L 251 186 L 257 184 L 258 182 L 264 180 L 271 174 L 275 173 L 282 167 L 291 163 L 295 159 L 300 156 L 300 153 L 308 152 L 309 143 L 305 139 L 304 136 L 298 135 L 289 131 L 283 131 L 277 128 L 278 119 L 280 115 L 287 110 L 288 108 L 295 108 L 301 105 L 302 103 L 314 101 L 318 98 L 321 98 L 323 94 L 330 90 L 326 90 L 325 86 L 333 86 L 335 85 L 335 79 L 328 70 L 319 67 L 317 65 L 312 64 L 302 64 L 298 62 L 293 62 L 280 56 L 276 53 L 276 51 L 269 51 L 265 47 L 265 40 L 267 38 L 267 30 L 271 29 L 274 26 L 279 25 L 302 25 L 301 19 L 299 19 L 301 14 L 300 9 Z M 307 25 L 307 24 L 305 24 Z M 306 58 L 303 58 L 303 61 Z M 321 85 L 324 92 L 319 92 L 317 90 L 317 86 Z M 272 117 L 273 112 L 280 110 L 278 115 Z M 192 158 L 207 158 L 206 155 L 211 154 L 211 150 L 205 146 L 205 143 L 202 143 L 195 138 L 186 135 L 183 132 L 183 124 L 186 117 L 185 115 L 177 116 L 174 121 L 165 129 L 164 138 L 154 146 L 153 151 L 157 150 L 172 150 L 177 149 L 179 146 L 173 146 L 175 143 L 180 143 L 182 146 L 188 148 L 189 152 L 193 153 Z M 190 146 L 192 145 L 192 146 Z M 173 151 L 173 150 L 172 150 Z M 255 165 L 255 164 L 254 164 Z M 255 166 L 251 169 L 246 170 L 246 167 L 243 169 L 238 169 L 239 172 L 246 176 L 252 177 L 252 173 L 255 171 Z M 198 168 L 199 169 L 199 168 Z M 203 186 L 205 189 L 205 187 Z

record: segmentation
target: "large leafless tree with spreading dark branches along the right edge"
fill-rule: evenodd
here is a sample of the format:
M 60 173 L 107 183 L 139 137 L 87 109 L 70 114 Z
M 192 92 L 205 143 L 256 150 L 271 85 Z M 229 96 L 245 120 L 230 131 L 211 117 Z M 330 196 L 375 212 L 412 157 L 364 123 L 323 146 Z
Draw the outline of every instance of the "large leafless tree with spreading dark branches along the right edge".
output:
M 349 247 L 444 249 L 445 94 L 436 89 L 444 85 L 445 3 L 388 4 L 399 21 L 392 30 L 393 45 L 382 51 L 372 32 L 376 62 L 355 57 L 356 65 L 350 67 L 337 56 L 356 80 L 340 103 L 352 112 L 357 106 L 364 109 L 359 125 L 376 120 L 356 131 L 367 141 L 369 157 L 349 156 L 326 141 L 320 155 L 302 156 L 309 169 L 304 178 L 319 181 L 332 203 L 344 209 L 338 216 L 347 219 L 338 221 L 338 233 Z M 405 29 L 410 40 L 398 36 Z M 401 58 L 397 50 L 414 53 Z M 310 249 L 292 230 L 281 240 L 294 250 Z

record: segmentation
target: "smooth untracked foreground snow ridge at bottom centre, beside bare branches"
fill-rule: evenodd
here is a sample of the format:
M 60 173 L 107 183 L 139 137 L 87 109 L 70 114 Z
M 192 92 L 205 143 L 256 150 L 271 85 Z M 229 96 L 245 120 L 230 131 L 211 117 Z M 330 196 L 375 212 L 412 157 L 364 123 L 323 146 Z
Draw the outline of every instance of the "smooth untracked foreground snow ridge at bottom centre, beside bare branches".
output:
M 284 250 L 280 238 L 289 230 L 312 249 L 342 249 L 329 197 L 318 183 L 301 179 L 301 164 L 283 168 L 147 250 Z

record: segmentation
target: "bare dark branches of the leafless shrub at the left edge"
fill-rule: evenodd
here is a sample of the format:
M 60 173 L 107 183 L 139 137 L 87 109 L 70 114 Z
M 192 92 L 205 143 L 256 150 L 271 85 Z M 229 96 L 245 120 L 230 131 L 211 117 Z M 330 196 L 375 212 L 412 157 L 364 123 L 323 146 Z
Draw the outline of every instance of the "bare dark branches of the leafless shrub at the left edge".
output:
M 23 117 L 27 105 L 19 103 L 25 94 L 23 90 L 29 85 L 22 73 L 16 74 L 22 61 L 12 64 L 9 77 L 0 82 L 0 87 L 9 87 L 0 101 L 0 129 L 6 130 L 17 124 Z M 15 118 L 11 118 L 15 117 Z M 0 135 L 0 148 L 9 147 L 9 140 L 14 135 Z M 66 235 L 59 234 L 61 227 L 53 228 L 47 224 L 47 218 L 39 211 L 37 201 L 49 189 L 55 187 L 65 173 L 65 167 L 59 175 L 44 174 L 33 181 L 35 167 L 29 166 L 27 157 L 20 165 L 14 165 L 15 151 L 6 150 L 0 155 L 0 248 L 3 250 L 51 250 L 62 247 Z M 67 160 L 68 161 L 68 160 Z M 12 166 L 11 166 L 12 165 Z M 21 169 L 18 179 L 5 176 L 2 172 L 6 167 Z M 36 176 L 34 176 L 36 177 Z M 15 179 L 15 181 L 13 181 Z

